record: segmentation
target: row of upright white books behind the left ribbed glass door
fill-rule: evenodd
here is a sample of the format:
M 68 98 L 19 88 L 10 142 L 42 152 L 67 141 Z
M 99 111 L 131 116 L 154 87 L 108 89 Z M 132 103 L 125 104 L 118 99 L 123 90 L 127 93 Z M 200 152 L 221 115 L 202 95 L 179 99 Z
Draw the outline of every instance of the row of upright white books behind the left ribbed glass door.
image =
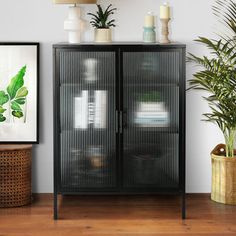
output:
M 75 129 L 105 129 L 107 119 L 107 91 L 83 90 L 74 98 Z

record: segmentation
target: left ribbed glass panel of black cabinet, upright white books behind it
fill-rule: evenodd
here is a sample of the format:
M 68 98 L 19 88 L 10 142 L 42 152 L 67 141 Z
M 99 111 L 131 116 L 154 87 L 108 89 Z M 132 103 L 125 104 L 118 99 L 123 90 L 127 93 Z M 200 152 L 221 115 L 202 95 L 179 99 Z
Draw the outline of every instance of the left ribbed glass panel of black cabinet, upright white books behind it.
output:
M 61 186 L 116 187 L 116 52 L 60 51 Z

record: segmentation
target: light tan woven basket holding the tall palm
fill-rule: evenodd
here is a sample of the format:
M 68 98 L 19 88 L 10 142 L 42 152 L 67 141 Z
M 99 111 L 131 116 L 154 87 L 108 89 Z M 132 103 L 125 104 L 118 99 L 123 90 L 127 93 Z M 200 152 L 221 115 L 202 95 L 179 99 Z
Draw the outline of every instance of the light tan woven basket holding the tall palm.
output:
M 219 203 L 236 205 L 236 157 L 228 158 L 224 154 L 224 144 L 217 145 L 211 152 L 211 199 Z

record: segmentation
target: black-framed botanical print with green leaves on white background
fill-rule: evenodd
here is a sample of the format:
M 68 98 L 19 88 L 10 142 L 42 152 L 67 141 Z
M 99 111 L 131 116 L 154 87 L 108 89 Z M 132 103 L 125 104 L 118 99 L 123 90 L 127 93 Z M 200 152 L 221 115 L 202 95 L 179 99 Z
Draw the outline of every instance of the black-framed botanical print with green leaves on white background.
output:
M 38 143 L 39 43 L 0 42 L 0 143 Z

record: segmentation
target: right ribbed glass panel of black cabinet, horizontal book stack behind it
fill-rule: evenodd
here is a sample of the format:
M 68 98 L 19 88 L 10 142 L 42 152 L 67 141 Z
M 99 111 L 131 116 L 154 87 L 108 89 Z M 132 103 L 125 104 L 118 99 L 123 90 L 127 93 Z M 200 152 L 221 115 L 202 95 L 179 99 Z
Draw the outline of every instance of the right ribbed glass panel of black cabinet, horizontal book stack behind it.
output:
M 178 51 L 123 52 L 123 185 L 179 185 Z

